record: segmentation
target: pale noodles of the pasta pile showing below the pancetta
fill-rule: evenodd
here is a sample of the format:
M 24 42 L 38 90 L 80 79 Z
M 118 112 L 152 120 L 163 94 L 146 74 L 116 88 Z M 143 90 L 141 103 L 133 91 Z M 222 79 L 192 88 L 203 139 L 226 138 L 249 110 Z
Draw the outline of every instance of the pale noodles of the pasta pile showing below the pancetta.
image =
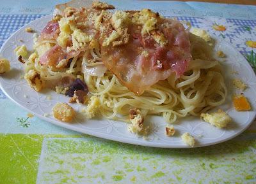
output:
M 87 85 L 90 96 L 99 98 L 99 113 L 105 118 L 129 122 L 129 110 L 138 108 L 144 116 L 160 115 L 166 122 L 173 123 L 177 118 L 199 116 L 220 106 L 227 96 L 221 66 L 212 57 L 213 46 L 191 33 L 189 41 L 192 58 L 186 71 L 180 76 L 172 72 L 165 80 L 145 88 L 140 95 L 129 90 L 105 66 L 99 46 L 90 46 L 70 57 L 67 67 L 52 67 L 42 64 L 42 56 L 58 44 L 58 39 L 38 39 L 25 71 L 35 69 L 47 87 L 52 88 L 60 85 L 63 78 L 79 78 Z M 100 74 L 95 71 L 90 74 L 93 68 Z

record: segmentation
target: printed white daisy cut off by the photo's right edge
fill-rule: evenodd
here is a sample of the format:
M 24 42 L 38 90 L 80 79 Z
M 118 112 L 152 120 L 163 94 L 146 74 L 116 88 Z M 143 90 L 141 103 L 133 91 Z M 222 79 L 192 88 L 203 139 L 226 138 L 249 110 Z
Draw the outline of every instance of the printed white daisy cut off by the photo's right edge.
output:
M 236 47 L 242 52 L 256 52 L 256 33 L 243 32 L 234 41 Z

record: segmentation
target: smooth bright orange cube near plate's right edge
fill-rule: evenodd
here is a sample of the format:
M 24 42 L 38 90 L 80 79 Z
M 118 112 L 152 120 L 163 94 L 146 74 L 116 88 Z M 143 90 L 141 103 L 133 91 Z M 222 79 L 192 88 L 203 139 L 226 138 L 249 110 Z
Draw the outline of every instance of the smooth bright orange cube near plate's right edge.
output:
M 243 94 L 234 95 L 233 104 L 236 111 L 250 111 L 251 106 Z

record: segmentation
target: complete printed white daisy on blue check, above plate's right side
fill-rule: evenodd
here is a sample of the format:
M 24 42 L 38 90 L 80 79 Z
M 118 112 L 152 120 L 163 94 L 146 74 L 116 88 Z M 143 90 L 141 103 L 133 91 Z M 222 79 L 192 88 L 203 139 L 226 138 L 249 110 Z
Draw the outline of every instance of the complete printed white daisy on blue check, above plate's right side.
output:
M 200 29 L 204 29 L 211 34 L 220 36 L 223 39 L 228 39 L 227 37 L 230 34 L 236 34 L 237 25 L 232 22 L 227 22 L 225 18 L 220 17 L 207 17 L 200 20 L 200 23 L 197 24 Z M 230 41 L 230 39 L 228 39 Z

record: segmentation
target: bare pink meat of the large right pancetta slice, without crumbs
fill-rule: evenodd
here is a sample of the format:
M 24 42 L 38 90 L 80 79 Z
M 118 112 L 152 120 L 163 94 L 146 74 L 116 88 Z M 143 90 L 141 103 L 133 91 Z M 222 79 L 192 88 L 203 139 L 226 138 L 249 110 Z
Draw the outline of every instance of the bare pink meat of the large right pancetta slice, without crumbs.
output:
M 159 19 L 159 31 L 168 39 L 159 45 L 150 34 L 141 35 L 141 27 L 129 27 L 129 42 L 119 46 L 101 46 L 102 61 L 118 80 L 136 95 L 176 73 L 182 75 L 192 59 L 188 31 L 175 19 Z M 168 23 L 168 27 L 161 26 Z M 111 32 L 111 31 L 109 31 Z M 101 42 L 102 43 L 102 42 Z M 141 52 L 147 51 L 147 57 Z

